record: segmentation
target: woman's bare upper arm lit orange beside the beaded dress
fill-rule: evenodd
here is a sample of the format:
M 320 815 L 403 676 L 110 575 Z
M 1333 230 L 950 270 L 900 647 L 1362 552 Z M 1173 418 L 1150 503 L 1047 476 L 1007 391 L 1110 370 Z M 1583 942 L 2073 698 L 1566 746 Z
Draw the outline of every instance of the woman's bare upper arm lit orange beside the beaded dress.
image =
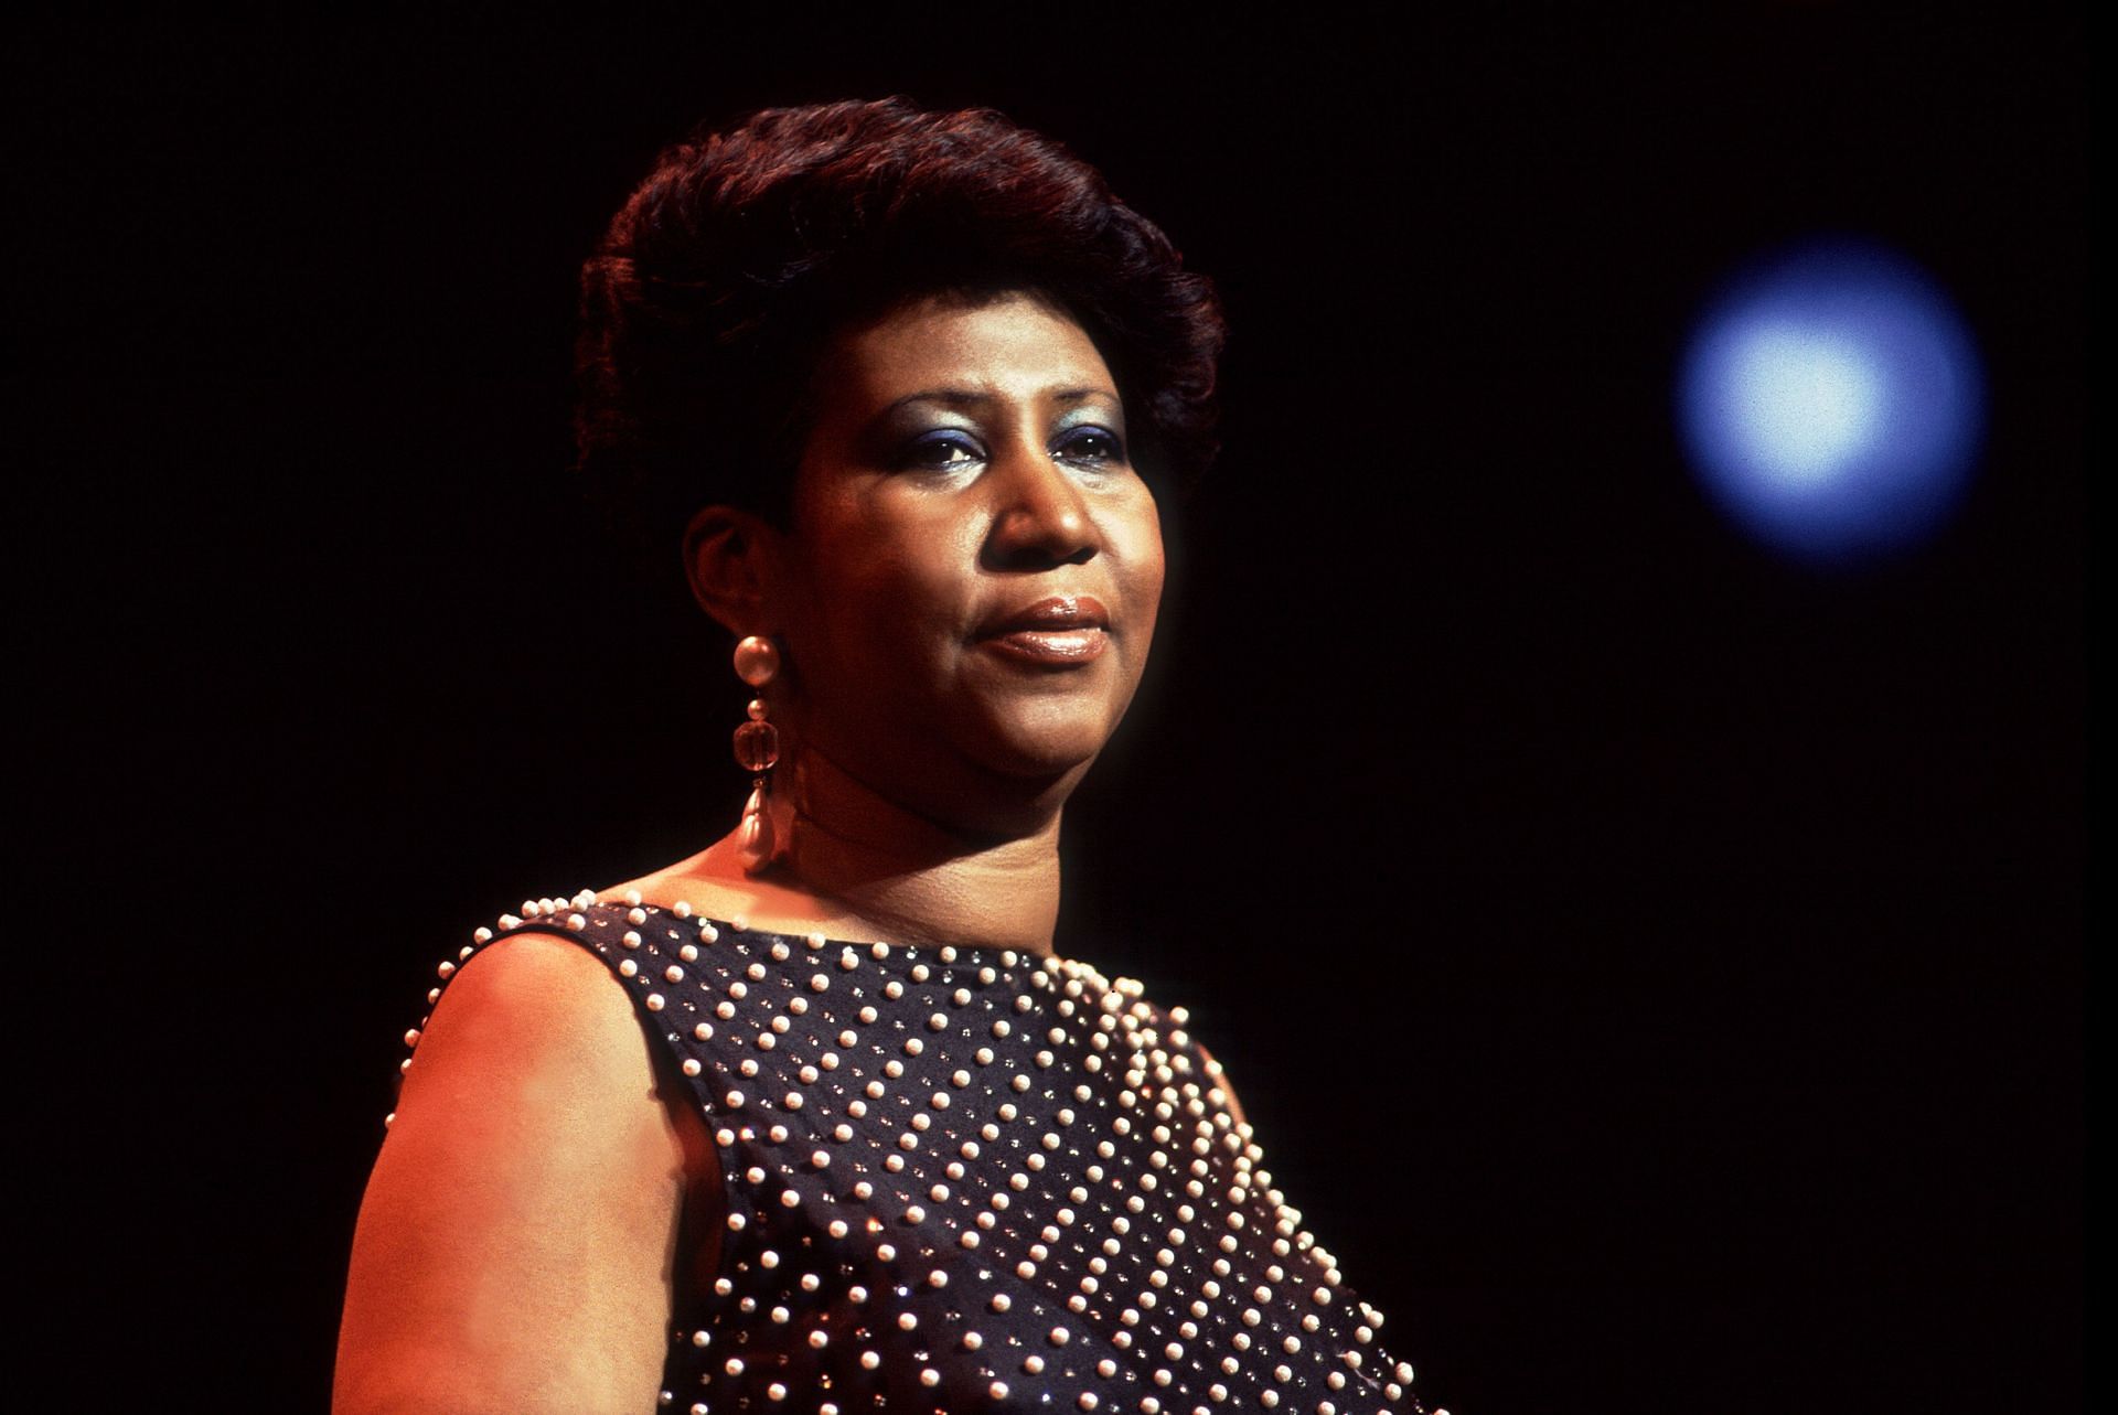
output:
M 335 1413 L 652 1411 L 684 1167 L 604 964 L 489 945 L 419 1038 L 360 1203 Z

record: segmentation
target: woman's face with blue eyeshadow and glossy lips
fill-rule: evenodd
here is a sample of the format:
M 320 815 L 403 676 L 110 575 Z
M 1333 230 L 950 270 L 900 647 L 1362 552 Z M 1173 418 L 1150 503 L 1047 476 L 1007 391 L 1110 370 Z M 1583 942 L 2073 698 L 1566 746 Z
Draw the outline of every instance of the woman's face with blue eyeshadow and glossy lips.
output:
M 775 716 L 940 822 L 1025 788 L 1063 801 L 1139 684 L 1163 591 L 1095 343 L 1034 294 L 928 299 L 841 335 L 818 394 Z

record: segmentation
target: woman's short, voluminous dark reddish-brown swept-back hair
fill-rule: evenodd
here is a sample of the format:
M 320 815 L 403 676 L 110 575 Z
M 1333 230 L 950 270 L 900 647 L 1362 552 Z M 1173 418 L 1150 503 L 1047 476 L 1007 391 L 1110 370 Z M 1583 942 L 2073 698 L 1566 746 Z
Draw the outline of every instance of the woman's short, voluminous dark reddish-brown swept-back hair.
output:
M 786 523 L 826 339 L 928 294 L 1029 288 L 1118 381 L 1135 466 L 1211 462 L 1222 318 L 1101 174 L 991 110 L 767 108 L 669 146 L 580 273 L 578 466 L 650 563 L 699 506 Z

